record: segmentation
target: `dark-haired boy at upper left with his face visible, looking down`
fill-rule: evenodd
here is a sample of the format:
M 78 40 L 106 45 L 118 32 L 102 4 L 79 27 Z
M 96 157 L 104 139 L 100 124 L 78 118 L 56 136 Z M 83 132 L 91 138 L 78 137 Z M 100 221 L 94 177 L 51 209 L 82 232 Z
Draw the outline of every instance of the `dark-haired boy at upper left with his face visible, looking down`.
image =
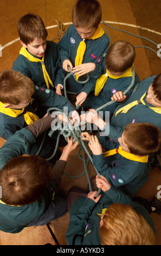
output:
M 17 22 L 23 47 L 12 69 L 31 78 L 35 86 L 56 89 L 61 94 L 65 72 L 60 62 L 57 44 L 47 41 L 48 32 L 40 16 L 27 14 Z

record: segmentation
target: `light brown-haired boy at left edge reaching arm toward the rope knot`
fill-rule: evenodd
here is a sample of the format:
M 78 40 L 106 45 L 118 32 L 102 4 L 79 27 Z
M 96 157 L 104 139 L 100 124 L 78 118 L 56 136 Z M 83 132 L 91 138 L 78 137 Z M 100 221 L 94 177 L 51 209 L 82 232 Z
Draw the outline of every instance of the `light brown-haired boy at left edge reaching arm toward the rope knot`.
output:
M 79 117 L 74 106 L 62 95 L 53 90 L 34 86 L 30 78 L 14 70 L 3 70 L 0 73 L 0 136 L 7 140 L 17 130 L 30 125 L 39 119 L 38 107 L 57 107 L 62 111 L 66 107 L 72 118 Z M 28 148 L 28 154 L 36 154 L 40 148 L 43 134 L 36 138 L 36 142 Z M 43 143 L 40 156 L 51 156 L 54 145 L 50 145 L 49 137 Z

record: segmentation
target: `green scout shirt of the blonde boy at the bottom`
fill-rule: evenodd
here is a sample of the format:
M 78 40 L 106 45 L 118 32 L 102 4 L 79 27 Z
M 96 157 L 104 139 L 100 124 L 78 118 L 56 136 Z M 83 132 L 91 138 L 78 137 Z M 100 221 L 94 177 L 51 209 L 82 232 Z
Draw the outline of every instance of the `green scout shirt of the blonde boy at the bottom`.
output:
M 70 221 L 66 233 L 67 245 L 101 245 L 98 214 L 114 203 L 129 204 L 145 218 L 154 234 L 156 233 L 149 212 L 137 202 L 132 202 L 126 194 L 111 186 L 110 190 L 102 192 L 97 204 L 92 199 L 85 197 L 79 197 L 74 202 L 70 210 Z

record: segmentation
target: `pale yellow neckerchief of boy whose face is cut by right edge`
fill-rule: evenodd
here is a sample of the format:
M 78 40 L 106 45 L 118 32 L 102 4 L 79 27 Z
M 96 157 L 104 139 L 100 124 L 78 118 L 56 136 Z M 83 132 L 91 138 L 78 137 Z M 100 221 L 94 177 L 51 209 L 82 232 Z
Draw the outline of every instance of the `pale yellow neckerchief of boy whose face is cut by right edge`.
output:
M 144 97 L 146 95 L 146 92 L 143 94 L 143 96 L 141 96 L 140 100 L 135 100 L 129 104 L 127 104 L 124 107 L 121 107 L 116 113 L 115 113 L 115 117 L 121 112 L 121 113 L 127 113 L 128 110 L 136 105 L 138 105 L 139 103 L 142 103 L 143 105 L 145 105 L 144 102 Z M 161 114 L 161 107 L 149 107 L 151 108 L 154 112 Z

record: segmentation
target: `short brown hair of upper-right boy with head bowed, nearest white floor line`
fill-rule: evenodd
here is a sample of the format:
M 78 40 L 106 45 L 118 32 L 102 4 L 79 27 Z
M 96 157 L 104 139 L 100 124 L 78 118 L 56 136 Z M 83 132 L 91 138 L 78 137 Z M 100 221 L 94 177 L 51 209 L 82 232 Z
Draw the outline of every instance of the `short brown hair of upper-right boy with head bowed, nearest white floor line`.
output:
M 106 58 L 106 69 L 111 72 L 124 72 L 130 68 L 136 57 L 134 46 L 130 42 L 119 40 L 110 46 Z

